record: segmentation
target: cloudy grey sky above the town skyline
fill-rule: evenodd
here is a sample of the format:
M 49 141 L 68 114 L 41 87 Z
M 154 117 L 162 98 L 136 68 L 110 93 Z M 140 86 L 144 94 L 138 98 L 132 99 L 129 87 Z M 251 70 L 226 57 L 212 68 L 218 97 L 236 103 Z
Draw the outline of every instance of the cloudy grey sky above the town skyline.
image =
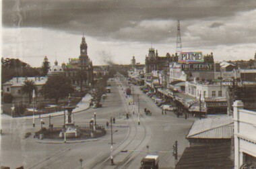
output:
M 84 33 L 94 65 L 145 63 L 148 49 L 213 52 L 215 61 L 256 51 L 255 0 L 2 0 L 1 55 L 41 66 L 79 57 Z

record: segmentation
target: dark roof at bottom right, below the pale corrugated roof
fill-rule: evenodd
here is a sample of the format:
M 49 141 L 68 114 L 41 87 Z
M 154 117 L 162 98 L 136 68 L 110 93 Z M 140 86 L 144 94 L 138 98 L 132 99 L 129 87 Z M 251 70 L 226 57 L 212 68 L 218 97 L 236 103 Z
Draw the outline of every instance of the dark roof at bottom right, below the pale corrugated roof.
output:
M 185 148 L 176 169 L 234 168 L 230 160 L 230 142 Z

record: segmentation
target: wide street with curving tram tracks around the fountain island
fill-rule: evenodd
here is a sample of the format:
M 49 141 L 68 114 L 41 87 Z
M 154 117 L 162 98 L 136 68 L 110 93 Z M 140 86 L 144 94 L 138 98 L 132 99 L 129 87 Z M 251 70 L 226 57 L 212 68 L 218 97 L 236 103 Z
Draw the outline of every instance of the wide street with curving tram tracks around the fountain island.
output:
M 127 88 L 127 82 L 121 82 L 123 89 Z M 162 115 L 162 111 L 147 97 L 138 86 L 134 88 L 135 114 L 129 101 L 133 97 L 126 98 L 118 79 L 110 82 L 111 93 L 103 101 L 103 107 L 88 109 L 74 114 L 76 125 L 88 125 L 96 112 L 98 125 L 106 125 L 110 117 L 115 117 L 113 124 L 113 157 L 115 166 L 110 166 L 110 128 L 103 137 L 96 139 L 68 141 L 35 139 L 34 131 L 40 129 L 40 119 L 36 119 L 36 127 L 32 127 L 32 119 L 2 119 L 1 128 L 1 165 L 11 168 L 24 166 L 24 168 L 80 168 L 79 159 L 82 159 L 82 168 L 139 168 L 141 159 L 146 156 L 149 146 L 150 154 L 160 156 L 160 168 L 174 168 L 175 162 L 172 156 L 172 145 L 178 141 L 178 153 L 180 155 L 188 146 L 185 136 L 194 119 L 177 118 L 172 112 Z M 140 125 L 138 125 L 138 95 Z M 147 108 L 152 116 L 146 116 L 143 109 Z M 129 119 L 125 115 L 129 113 Z M 48 127 L 49 119 L 45 118 Z M 63 116 L 51 119 L 56 126 L 63 125 Z M 32 135 L 24 138 L 27 132 Z M 121 152 L 127 150 L 127 152 Z M 135 150 L 135 151 L 133 151 Z M 158 152 L 158 153 L 156 153 Z

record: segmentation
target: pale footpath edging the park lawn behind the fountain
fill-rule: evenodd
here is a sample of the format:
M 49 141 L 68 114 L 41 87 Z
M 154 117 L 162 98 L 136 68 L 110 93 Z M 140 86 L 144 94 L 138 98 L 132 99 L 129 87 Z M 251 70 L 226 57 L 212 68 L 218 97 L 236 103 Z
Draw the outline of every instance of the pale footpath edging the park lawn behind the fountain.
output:
M 87 94 L 85 97 L 82 98 L 82 100 L 77 103 L 77 107 L 75 109 L 73 109 L 72 113 L 78 113 L 80 111 L 85 111 L 86 109 L 90 108 L 90 100 L 92 99 L 92 96 Z M 49 117 L 49 115 L 51 115 L 51 117 L 53 116 L 59 116 L 59 115 L 63 115 L 64 111 L 57 111 L 54 113 L 46 113 L 46 114 L 42 114 L 40 115 L 34 115 L 35 119 L 39 119 L 39 118 L 45 118 L 45 117 Z M 9 115 L 5 115 L 5 114 L 1 114 L 1 119 L 33 119 L 33 116 L 26 116 L 26 117 L 11 117 Z

